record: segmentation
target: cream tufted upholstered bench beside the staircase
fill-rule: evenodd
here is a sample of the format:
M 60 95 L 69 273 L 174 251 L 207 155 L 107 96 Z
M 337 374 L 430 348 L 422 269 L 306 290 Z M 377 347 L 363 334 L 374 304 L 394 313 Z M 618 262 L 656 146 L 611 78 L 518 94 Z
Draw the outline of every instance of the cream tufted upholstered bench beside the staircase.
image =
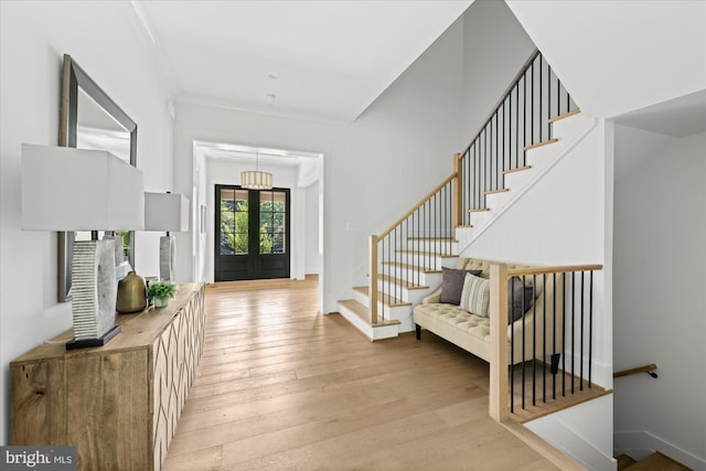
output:
M 499 263 L 501 261 L 462 258 L 458 267 L 460 270 L 480 271 L 480 277 L 489 278 L 491 264 Z M 532 268 L 516 264 L 505 264 L 509 269 Z M 447 270 L 445 270 L 445 278 L 446 276 Z M 556 372 L 564 344 L 563 280 L 561 276 L 557 276 L 556 280 L 553 276 L 547 276 L 546 283 L 544 276 L 524 278 L 523 288 L 530 290 L 532 301 L 521 303 L 523 308 L 526 307 L 524 313 L 520 311 L 520 315 L 515 315 L 516 319 L 509 319 L 507 358 L 510 364 L 550 356 L 553 372 Z M 421 340 L 421 329 L 426 329 L 490 362 L 490 318 L 471 313 L 454 303 L 441 302 L 442 287 L 424 298 L 421 304 L 414 309 L 417 340 Z M 511 293 L 509 292 L 507 296 L 510 301 Z M 512 299 L 515 300 L 514 297 Z M 511 307 L 509 307 L 510 310 Z M 514 347 L 510 345 L 512 339 L 514 339 Z

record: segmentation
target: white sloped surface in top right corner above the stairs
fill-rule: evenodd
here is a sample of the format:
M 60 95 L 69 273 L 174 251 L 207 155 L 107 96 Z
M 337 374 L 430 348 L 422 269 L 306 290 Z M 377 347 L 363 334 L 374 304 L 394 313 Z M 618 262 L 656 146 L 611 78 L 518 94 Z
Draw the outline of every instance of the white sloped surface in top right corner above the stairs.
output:
M 505 0 L 589 116 L 706 88 L 706 2 Z

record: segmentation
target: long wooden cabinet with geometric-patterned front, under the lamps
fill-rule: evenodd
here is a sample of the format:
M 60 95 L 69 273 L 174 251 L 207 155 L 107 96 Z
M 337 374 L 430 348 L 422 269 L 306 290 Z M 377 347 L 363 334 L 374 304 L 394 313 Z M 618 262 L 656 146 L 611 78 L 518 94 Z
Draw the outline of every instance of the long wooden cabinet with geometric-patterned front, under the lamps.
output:
M 119 314 L 108 344 L 66 351 L 72 331 L 10 363 L 11 445 L 74 445 L 81 470 L 159 470 L 203 353 L 202 283 L 167 308 Z

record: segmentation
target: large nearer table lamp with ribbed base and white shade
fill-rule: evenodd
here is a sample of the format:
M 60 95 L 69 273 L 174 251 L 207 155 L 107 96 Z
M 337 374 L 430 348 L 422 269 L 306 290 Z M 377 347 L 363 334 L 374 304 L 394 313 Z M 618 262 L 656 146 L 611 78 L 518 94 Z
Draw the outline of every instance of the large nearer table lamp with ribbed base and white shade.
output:
M 22 229 L 92 231 L 73 245 L 75 338 L 66 349 L 103 345 L 120 331 L 115 242 L 96 229 L 142 228 L 143 212 L 142 171 L 110 152 L 22 146 Z

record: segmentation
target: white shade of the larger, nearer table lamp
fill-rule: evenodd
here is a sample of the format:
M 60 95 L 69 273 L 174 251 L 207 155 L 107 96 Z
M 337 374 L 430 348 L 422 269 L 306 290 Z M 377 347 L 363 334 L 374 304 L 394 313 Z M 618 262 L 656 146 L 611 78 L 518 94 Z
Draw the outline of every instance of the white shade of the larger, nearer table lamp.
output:
M 101 150 L 22 144 L 22 228 L 145 226 L 142 171 Z

